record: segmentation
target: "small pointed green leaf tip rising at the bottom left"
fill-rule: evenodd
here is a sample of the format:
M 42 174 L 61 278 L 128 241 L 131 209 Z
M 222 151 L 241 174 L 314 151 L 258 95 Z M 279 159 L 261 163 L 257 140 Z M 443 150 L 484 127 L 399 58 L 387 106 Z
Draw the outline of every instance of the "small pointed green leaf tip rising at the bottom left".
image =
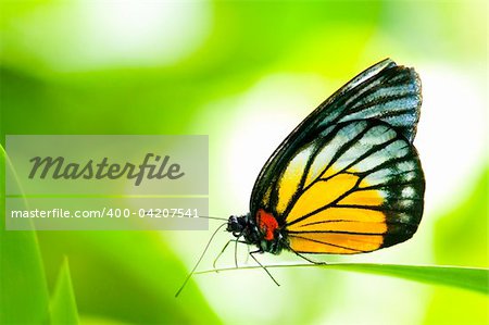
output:
M 51 298 L 51 324 L 78 324 L 78 311 L 66 258 Z

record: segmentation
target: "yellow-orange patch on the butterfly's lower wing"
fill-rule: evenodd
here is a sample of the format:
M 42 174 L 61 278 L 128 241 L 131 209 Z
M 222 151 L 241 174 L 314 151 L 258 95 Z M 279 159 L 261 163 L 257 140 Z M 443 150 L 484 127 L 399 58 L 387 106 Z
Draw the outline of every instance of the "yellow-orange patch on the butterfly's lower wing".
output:
M 380 211 L 385 193 L 363 189 L 368 183 L 359 182 L 354 174 L 328 173 L 324 177 L 330 178 L 312 183 L 287 217 L 290 248 L 335 254 L 379 249 L 388 232 L 386 215 Z

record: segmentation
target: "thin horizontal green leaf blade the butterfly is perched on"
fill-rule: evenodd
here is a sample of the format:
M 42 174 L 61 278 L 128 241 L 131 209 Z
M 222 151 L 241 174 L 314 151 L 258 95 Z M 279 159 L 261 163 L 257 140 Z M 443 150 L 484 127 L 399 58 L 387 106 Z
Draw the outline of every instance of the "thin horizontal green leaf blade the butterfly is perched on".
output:
M 330 264 L 274 264 L 265 265 L 266 268 L 274 267 L 325 267 L 351 272 L 388 275 L 399 278 L 459 287 L 481 293 L 489 293 L 489 270 L 462 266 L 438 266 L 438 265 L 396 265 L 396 264 L 368 264 L 368 263 L 330 263 Z M 196 272 L 204 274 L 231 270 L 260 268 L 261 266 L 228 267 Z

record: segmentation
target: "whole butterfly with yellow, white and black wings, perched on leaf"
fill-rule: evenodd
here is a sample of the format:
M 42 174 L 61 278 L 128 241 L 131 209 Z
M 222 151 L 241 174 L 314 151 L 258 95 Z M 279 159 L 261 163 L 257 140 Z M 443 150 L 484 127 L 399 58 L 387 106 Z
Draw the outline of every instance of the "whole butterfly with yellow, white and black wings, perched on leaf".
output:
M 413 146 L 421 105 L 414 68 L 386 59 L 360 73 L 274 151 L 250 212 L 223 225 L 231 241 L 255 246 L 252 257 L 287 250 L 316 263 L 304 254 L 365 253 L 410 239 L 424 207 Z

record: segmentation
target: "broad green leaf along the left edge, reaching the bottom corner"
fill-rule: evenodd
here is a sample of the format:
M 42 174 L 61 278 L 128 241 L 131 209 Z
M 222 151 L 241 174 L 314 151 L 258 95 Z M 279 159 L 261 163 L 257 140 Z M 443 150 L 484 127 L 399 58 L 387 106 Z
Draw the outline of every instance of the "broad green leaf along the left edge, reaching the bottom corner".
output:
M 1 146 L 0 155 L 0 182 L 4 184 L 5 163 L 12 166 Z M 49 295 L 36 233 L 7 232 L 4 214 L 0 209 L 0 324 L 47 324 Z

